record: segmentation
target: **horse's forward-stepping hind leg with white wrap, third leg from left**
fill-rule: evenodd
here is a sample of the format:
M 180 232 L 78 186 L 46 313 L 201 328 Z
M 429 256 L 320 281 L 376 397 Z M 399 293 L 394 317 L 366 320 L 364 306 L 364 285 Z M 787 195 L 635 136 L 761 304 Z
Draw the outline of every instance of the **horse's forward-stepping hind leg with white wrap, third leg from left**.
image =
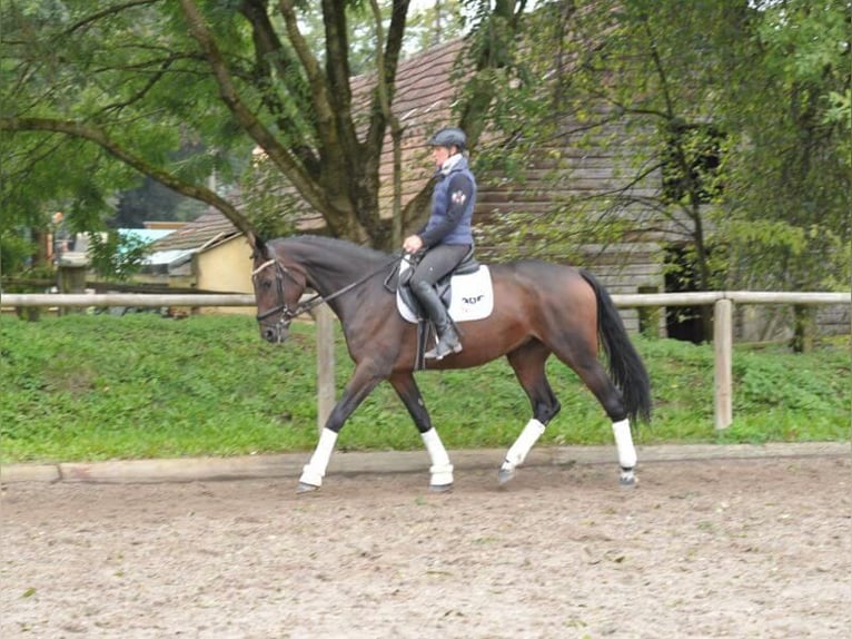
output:
M 524 463 L 526 455 L 544 433 L 547 423 L 559 412 L 559 402 L 553 394 L 544 370 L 549 355 L 551 351 L 538 341 L 528 342 L 507 355 L 518 382 L 529 397 L 533 419 L 526 423 L 521 435 L 506 453 L 506 459 L 497 473 L 501 484 L 515 476 L 515 469 Z

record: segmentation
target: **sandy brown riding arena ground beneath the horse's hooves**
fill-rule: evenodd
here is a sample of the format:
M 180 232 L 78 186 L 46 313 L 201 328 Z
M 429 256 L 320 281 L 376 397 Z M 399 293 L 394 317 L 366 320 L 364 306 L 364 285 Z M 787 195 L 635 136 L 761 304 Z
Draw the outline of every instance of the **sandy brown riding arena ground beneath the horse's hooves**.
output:
M 841 638 L 843 458 L 3 488 L 0 637 Z

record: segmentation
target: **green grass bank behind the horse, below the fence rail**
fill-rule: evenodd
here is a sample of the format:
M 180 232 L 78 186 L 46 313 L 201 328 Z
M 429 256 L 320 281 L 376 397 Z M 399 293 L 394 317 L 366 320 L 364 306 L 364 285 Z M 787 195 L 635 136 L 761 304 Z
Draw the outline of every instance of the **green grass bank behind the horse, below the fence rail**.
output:
M 654 417 L 637 443 L 844 441 L 850 434 L 849 340 L 794 355 L 736 347 L 734 424 L 713 429 L 713 352 L 635 337 L 651 374 Z M 37 323 L 0 317 L 0 461 L 76 461 L 305 451 L 316 442 L 313 326 L 284 346 L 262 342 L 245 316 L 69 315 Z M 337 387 L 351 372 L 337 341 Z M 576 376 L 548 363 L 562 413 L 543 444 L 612 444 L 603 410 Z M 448 448 L 508 446 L 529 419 L 505 361 L 420 373 Z M 389 385 L 341 431 L 344 450 L 422 443 Z

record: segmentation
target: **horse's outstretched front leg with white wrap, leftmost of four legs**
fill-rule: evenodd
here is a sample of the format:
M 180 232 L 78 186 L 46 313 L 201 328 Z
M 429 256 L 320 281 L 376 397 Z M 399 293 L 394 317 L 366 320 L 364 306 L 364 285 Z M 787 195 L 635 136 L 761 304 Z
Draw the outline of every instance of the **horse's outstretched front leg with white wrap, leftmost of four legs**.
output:
M 301 471 L 298 492 L 315 491 L 323 485 L 323 478 L 326 475 L 340 429 L 383 379 L 383 375 L 376 373 L 375 366 L 356 365 L 355 373 L 346 385 L 343 396 L 335 404 L 325 426 L 323 426 L 323 432 L 319 433 L 319 442 L 314 449 L 314 454 L 310 455 L 310 461 Z

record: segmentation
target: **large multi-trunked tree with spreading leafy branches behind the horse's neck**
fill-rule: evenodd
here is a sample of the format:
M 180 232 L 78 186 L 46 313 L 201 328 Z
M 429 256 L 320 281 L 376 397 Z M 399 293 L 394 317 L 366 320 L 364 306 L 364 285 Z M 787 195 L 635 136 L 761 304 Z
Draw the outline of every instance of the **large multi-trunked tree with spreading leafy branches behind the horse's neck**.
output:
M 389 105 L 408 4 L 389 3 L 384 40 L 376 42 Z M 499 42 L 511 38 L 524 7 L 503 0 L 479 16 L 492 50 L 504 49 Z M 14 136 L 3 144 L 27 136 L 33 145 L 51 140 L 66 149 L 85 140 L 123 183 L 146 175 L 218 208 L 244 232 L 251 230 L 245 212 L 204 178 L 214 168 L 232 173 L 228 158 L 248 158 L 257 146 L 328 233 L 388 246 L 378 167 L 389 116 L 377 90 L 364 108 L 351 89 L 349 26 L 365 10 L 356 0 L 324 1 L 324 31 L 309 40 L 310 9 L 293 0 L 10 0 L 0 16 L 8 52 L 0 67 L 7 105 L 0 130 Z M 488 35 L 487 24 L 497 21 L 499 35 Z M 474 78 L 505 63 L 479 56 Z M 478 87 L 467 98 L 472 105 L 491 99 L 487 83 Z M 477 122 L 481 110 L 463 109 L 462 124 Z M 470 128 L 475 142 L 478 122 Z M 196 142 L 216 153 L 170 161 Z M 40 171 L 41 159 L 23 154 L 12 170 Z M 107 181 L 96 185 L 101 199 Z M 415 198 L 406 207 L 404 226 L 419 220 L 424 203 Z

